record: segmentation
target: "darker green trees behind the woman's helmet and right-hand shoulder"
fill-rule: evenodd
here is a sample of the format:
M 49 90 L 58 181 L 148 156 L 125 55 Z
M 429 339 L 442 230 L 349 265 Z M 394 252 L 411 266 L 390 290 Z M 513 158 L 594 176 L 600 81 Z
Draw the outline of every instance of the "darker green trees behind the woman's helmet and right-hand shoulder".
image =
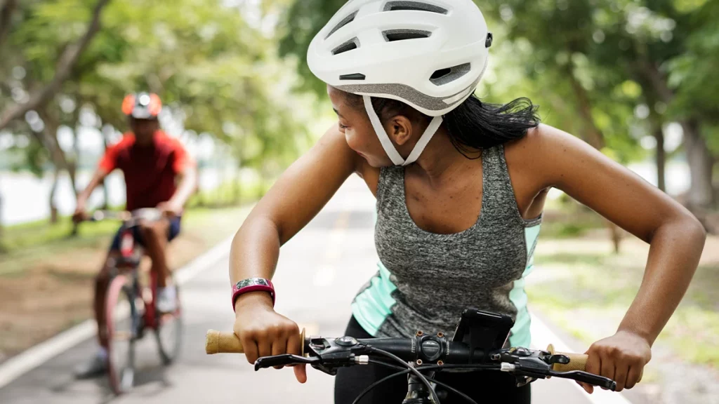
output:
M 528 96 L 547 124 L 625 165 L 651 157 L 655 185 L 713 224 L 719 156 L 719 1 L 475 0 L 495 34 L 477 94 Z M 303 89 L 324 86 L 303 55 L 343 0 L 296 0 L 280 52 L 301 60 Z M 686 186 L 667 189 L 667 164 L 683 162 Z M 674 180 L 681 182 L 679 174 Z M 646 175 L 645 175 L 646 176 Z M 714 219 L 715 221 L 715 219 Z

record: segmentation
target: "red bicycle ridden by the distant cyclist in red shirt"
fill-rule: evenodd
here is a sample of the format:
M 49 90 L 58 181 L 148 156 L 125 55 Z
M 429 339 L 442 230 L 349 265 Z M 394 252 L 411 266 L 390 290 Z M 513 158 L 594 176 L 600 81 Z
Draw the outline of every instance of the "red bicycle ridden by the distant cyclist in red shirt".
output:
M 137 211 L 95 211 L 91 221 L 121 220 L 120 257 L 111 260 L 111 281 L 105 298 L 108 336 L 108 375 L 111 389 L 122 394 L 132 388 L 135 372 L 135 343 L 152 330 L 162 364 L 171 364 L 182 343 L 180 293 L 173 313 L 158 313 L 155 308 L 157 274 L 150 272 L 149 286 L 139 270 L 142 246 L 133 237 L 133 229 L 142 221 L 158 221 L 162 212 L 155 208 Z M 175 283 L 175 287 L 176 287 Z

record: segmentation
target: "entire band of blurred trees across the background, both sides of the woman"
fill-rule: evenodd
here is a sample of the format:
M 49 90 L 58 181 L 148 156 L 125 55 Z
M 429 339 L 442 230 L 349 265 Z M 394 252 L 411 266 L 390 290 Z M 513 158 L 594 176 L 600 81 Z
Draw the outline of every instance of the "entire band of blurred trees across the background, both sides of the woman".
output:
M 305 55 L 344 3 L 0 0 L 0 170 L 51 175 L 56 219 L 58 180 L 81 188 L 78 172 L 127 130 L 124 94 L 154 91 L 165 129 L 201 170 L 220 168 L 237 201 L 242 175 L 273 178 L 321 133 L 325 89 Z M 477 4 L 495 33 L 481 98 L 528 96 L 546 123 L 625 165 L 651 163 L 644 176 L 713 226 L 719 1 Z

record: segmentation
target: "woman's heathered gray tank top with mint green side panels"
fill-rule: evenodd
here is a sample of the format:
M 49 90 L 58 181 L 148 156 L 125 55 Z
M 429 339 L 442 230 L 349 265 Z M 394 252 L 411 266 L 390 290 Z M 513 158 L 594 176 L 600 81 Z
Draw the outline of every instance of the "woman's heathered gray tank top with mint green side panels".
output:
M 420 229 L 407 209 L 404 168 L 380 170 L 375 244 L 379 271 L 359 291 L 352 313 L 377 337 L 421 330 L 454 334 L 464 308 L 515 319 L 513 346 L 528 346 L 524 278 L 531 272 L 541 217 L 525 220 L 504 147 L 482 152 L 482 206 L 474 226 L 455 234 Z

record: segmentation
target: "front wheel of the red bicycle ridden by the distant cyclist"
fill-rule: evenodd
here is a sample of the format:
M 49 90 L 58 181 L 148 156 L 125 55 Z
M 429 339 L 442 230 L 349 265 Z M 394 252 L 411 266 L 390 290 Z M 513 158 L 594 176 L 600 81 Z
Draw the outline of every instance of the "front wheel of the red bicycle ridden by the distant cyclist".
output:
M 134 380 L 135 331 L 139 321 L 134 296 L 132 280 L 118 275 L 111 281 L 105 299 L 108 375 L 115 394 L 127 392 Z

